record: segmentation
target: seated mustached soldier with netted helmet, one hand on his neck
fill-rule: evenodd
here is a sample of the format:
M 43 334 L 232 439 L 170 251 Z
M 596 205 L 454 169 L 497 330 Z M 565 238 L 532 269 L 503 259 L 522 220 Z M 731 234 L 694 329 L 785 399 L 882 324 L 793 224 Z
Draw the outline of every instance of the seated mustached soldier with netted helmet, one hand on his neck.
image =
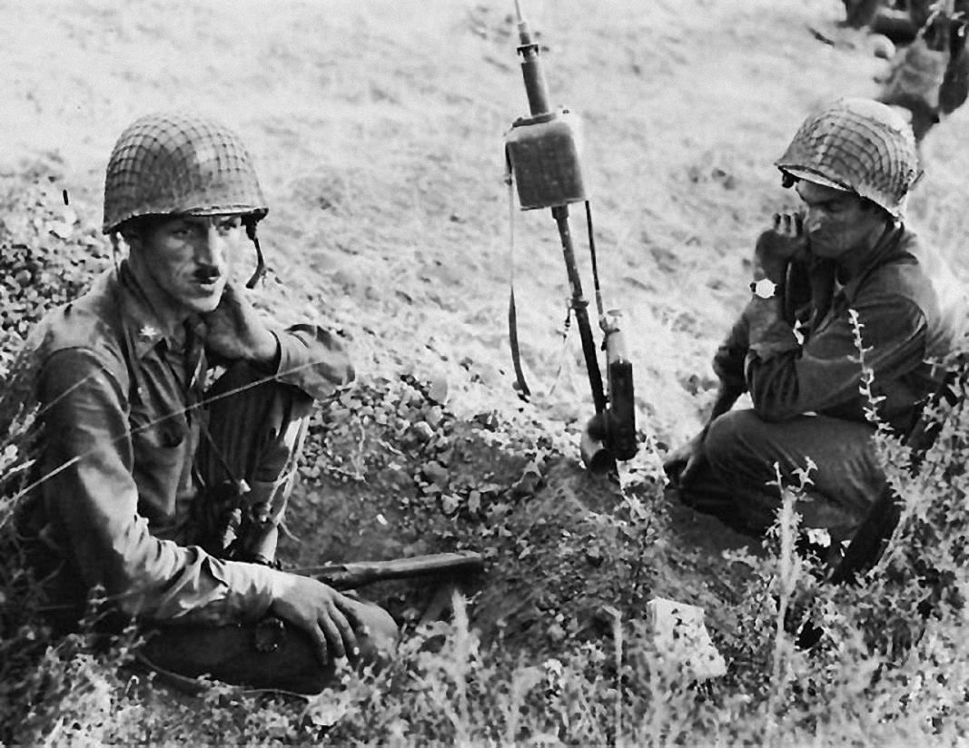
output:
M 158 113 L 121 134 L 104 232 L 127 257 L 32 338 L 46 480 L 28 524 L 58 623 L 99 586 L 157 626 L 142 657 L 159 670 L 308 692 L 396 628 L 271 564 L 313 399 L 354 371 L 327 329 L 268 325 L 239 288 L 246 236 L 261 273 L 266 212 L 221 123 Z M 267 616 L 285 636 L 257 652 Z

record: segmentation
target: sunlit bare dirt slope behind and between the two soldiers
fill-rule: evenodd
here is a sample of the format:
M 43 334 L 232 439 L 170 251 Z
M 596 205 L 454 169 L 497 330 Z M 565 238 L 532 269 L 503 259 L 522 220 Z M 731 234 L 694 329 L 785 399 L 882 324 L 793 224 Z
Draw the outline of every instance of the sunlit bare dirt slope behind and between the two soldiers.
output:
M 815 103 L 876 91 L 886 63 L 838 26 L 840 2 L 525 4 L 551 98 L 584 123 L 604 294 L 625 312 L 644 435 L 622 471 L 628 505 L 578 466 L 592 405 L 574 328 L 563 342 L 554 223 L 509 209 L 503 137 L 526 112 L 511 0 L 5 5 L 4 196 L 40 184 L 39 211 L 106 264 L 100 192 L 121 129 L 156 109 L 218 116 L 250 145 L 270 206 L 258 303 L 351 340 L 360 382 L 315 416 L 291 517 L 303 543 L 284 542 L 287 560 L 485 549 L 475 622 L 535 657 L 601 634 L 610 601 L 640 616 L 647 593 L 732 631 L 746 588 L 718 551 L 741 541 L 702 520 L 668 533 L 659 464 L 711 401 L 709 358 L 747 296 L 753 238 L 795 204 L 773 159 Z M 911 203 L 960 277 L 967 116 L 924 143 Z M 11 245 L 46 238 L 27 212 L 0 220 Z M 591 296 L 581 239 L 578 251 Z M 512 268 L 528 403 L 513 388 Z M 412 421 L 434 436 L 418 440 Z M 530 475 L 541 487 L 521 487 Z

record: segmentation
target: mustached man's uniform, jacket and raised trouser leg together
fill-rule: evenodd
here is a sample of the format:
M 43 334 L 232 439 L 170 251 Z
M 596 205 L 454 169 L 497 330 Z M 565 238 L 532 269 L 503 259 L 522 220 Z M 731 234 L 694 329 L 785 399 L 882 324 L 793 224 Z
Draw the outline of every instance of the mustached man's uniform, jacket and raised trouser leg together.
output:
M 40 487 L 42 537 L 64 561 L 70 579 L 59 586 L 76 607 L 99 584 L 152 620 L 259 618 L 271 569 L 212 555 L 224 550 L 216 536 L 234 482 L 248 484 L 244 500 L 275 503 L 268 509 L 278 514 L 285 491 L 273 489 L 290 480 L 283 471 L 312 400 L 350 382 L 353 367 L 328 330 L 300 326 L 277 333 L 274 369 L 226 361 L 206 393 L 201 321 L 182 341 L 160 330 L 122 263 L 34 332 L 41 471 L 50 476 Z

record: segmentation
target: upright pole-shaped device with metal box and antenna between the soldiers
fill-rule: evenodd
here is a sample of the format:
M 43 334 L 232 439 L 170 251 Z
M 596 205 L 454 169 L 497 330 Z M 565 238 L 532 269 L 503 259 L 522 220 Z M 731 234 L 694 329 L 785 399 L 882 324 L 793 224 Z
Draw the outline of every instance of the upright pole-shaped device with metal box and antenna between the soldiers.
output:
M 577 131 L 573 125 L 576 118 L 567 109 L 555 111 L 549 107 L 547 83 L 539 63 L 539 46 L 533 41 L 528 22 L 521 14 L 519 0 L 515 2 L 515 9 L 520 42 L 517 50 L 521 55 L 521 73 L 531 116 L 521 117 L 512 124 L 505 139 L 505 154 L 510 172 L 515 175 L 521 209 L 551 208 L 558 227 L 572 290 L 571 308 L 576 316 L 596 410 L 596 415 L 585 427 L 579 449 L 582 461 L 589 470 L 609 472 L 614 469 L 616 459 L 630 459 L 638 449 L 632 363 L 627 357 L 625 339 L 619 329 L 621 315 L 615 311 L 608 314 L 603 311 L 592 233 L 592 211 L 585 198 L 578 161 Z M 588 301 L 582 294 L 582 283 L 576 267 L 569 228 L 569 203 L 585 203 L 596 306 L 599 325 L 605 333 L 603 347 L 606 349 L 608 391 L 603 388 L 602 372 L 589 324 Z M 509 319 L 513 323 L 510 337 L 518 372 L 514 291 Z M 519 375 L 519 384 L 520 381 Z

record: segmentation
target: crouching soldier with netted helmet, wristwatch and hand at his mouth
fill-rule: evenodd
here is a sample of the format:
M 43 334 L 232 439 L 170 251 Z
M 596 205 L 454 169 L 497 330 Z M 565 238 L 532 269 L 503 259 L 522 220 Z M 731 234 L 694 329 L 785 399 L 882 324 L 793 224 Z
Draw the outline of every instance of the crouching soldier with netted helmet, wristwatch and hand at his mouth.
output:
M 856 334 L 878 416 L 904 434 L 944 375 L 931 361 L 953 351 L 962 299 L 905 226 L 920 170 L 895 110 L 866 99 L 817 109 L 776 166 L 801 209 L 775 214 L 758 238 L 750 300 L 713 361 L 710 418 L 665 468 L 685 504 L 748 533 L 780 506 L 775 465 L 789 484 L 808 469 L 798 511 L 843 540 L 886 483 Z M 744 392 L 753 407 L 732 410 Z

